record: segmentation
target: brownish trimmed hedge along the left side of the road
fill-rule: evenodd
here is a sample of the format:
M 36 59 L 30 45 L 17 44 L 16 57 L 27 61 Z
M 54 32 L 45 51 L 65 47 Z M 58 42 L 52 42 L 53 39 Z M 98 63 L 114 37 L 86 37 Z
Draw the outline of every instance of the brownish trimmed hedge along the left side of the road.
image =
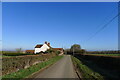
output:
M 56 56 L 55 54 L 45 55 L 26 55 L 16 57 L 3 57 L 2 58 L 2 75 L 16 72 L 20 69 L 28 68 L 36 63 L 44 62 Z

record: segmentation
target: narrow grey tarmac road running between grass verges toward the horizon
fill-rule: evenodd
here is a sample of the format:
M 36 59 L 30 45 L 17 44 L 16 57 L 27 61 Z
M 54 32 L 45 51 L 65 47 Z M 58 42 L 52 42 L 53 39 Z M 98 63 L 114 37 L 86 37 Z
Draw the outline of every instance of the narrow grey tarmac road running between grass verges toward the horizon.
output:
M 38 73 L 34 78 L 78 78 L 74 70 L 70 55 L 65 55 L 61 60 Z

